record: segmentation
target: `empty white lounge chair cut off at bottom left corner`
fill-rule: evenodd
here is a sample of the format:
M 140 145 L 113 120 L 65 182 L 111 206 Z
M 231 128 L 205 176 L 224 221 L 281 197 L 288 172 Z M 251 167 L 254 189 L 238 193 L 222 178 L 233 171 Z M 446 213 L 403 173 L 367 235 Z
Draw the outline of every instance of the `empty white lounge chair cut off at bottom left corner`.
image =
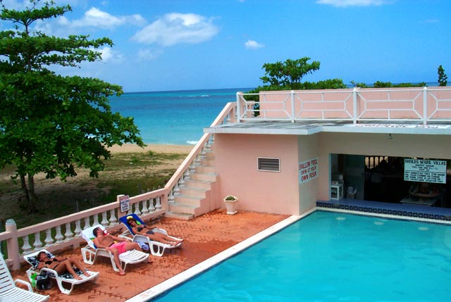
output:
M 16 283 L 24 284 L 28 290 L 21 289 Z M 13 280 L 0 253 L 0 301 L 1 302 L 41 302 L 49 300 L 49 296 L 33 292 L 31 284 L 20 279 Z

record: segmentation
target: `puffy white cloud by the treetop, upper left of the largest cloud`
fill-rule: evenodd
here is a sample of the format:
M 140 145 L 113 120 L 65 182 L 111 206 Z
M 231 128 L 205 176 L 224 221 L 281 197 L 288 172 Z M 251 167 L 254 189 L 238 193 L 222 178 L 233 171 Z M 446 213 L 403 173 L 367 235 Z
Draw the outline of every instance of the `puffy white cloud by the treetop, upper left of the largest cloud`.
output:
M 70 23 L 70 26 L 100 27 L 104 29 L 111 29 L 114 27 L 125 25 L 127 23 L 142 26 L 146 23 L 146 21 L 139 14 L 115 16 L 110 15 L 109 13 L 106 13 L 104 11 L 100 11 L 99 8 L 92 7 L 85 12 L 83 18 L 79 20 L 74 20 L 72 23 Z

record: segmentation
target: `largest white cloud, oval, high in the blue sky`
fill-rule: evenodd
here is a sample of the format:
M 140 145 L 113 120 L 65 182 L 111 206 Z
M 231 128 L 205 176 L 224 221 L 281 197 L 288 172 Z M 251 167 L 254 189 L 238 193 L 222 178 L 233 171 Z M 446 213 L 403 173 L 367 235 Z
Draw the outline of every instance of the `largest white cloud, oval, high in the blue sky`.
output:
M 163 18 L 147 25 L 132 39 L 144 44 L 172 46 L 207 41 L 218 33 L 211 19 L 194 13 L 168 13 Z

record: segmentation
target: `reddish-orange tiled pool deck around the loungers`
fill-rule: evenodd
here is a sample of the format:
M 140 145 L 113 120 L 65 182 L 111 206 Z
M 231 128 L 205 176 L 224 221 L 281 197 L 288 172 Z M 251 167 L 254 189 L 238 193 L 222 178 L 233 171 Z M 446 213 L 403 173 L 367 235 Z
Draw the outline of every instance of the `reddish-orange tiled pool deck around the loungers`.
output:
M 87 282 L 75 286 L 70 296 L 61 294 L 56 286 L 37 292 L 49 294 L 49 301 L 125 301 L 288 217 L 247 211 L 226 215 L 226 210 L 214 210 L 190 221 L 161 218 L 156 225 L 185 239 L 182 248 L 166 251 L 163 257 L 152 257 L 151 264 L 128 265 L 127 275 L 123 277 L 113 271 L 109 258 L 100 257 L 94 265 L 85 265 L 89 270 L 100 272 L 95 284 Z M 75 256 L 82 261 L 80 248 L 56 254 Z M 14 279 L 28 281 L 27 268 L 23 265 L 11 275 Z

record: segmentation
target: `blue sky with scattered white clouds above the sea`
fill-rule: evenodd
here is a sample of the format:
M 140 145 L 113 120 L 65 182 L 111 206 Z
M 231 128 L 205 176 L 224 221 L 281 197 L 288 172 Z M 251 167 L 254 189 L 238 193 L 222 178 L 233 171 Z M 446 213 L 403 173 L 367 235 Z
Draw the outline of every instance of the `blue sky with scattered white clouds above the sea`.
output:
M 451 79 L 449 0 L 57 0 L 73 12 L 47 34 L 109 37 L 102 62 L 57 68 L 125 92 L 257 87 L 262 65 L 304 56 L 304 80 L 372 84 Z M 23 0 L 4 0 L 20 9 Z M 4 23 L 0 30 L 7 29 Z M 451 80 L 450 80 L 451 81 Z

